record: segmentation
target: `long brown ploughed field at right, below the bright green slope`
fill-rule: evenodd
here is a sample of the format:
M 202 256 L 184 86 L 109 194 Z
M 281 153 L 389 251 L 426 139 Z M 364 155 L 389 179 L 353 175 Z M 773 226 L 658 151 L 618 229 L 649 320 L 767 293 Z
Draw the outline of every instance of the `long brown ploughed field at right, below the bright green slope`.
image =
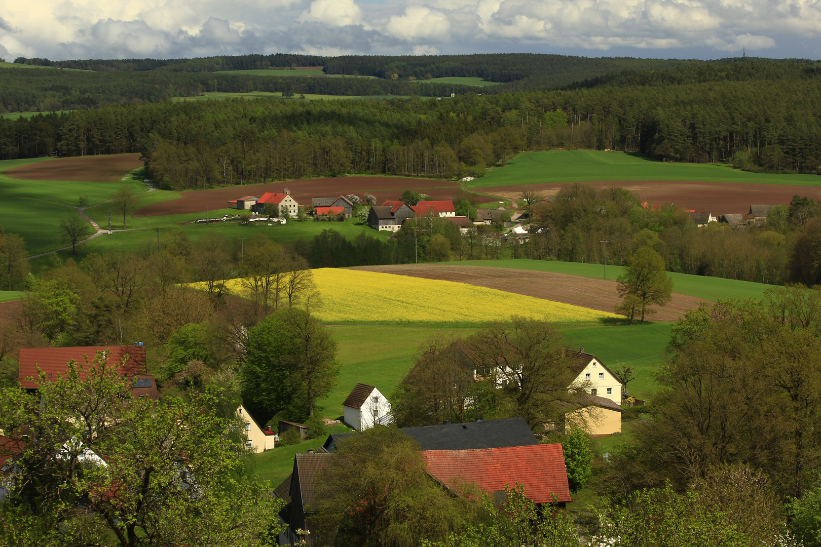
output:
M 527 185 L 542 196 L 556 195 L 569 182 L 544 185 Z M 649 203 L 672 203 L 681 209 L 710 212 L 714 216 L 732 212 L 748 213 L 750 205 L 790 203 L 792 196 L 799 194 L 810 198 L 821 198 L 819 186 L 764 185 L 750 182 L 695 182 L 689 180 L 608 180 L 582 182 L 595 188 L 621 186 L 638 194 L 642 201 Z M 515 186 L 476 188 L 483 194 L 516 199 L 520 189 Z

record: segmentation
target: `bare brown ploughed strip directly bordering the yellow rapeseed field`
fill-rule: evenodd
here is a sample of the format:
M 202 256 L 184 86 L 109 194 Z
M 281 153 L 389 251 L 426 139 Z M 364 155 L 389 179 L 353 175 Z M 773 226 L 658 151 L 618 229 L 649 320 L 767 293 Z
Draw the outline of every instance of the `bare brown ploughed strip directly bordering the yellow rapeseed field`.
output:
M 381 271 L 400 276 L 424 277 L 479 285 L 508 293 L 534 296 L 612 312 L 621 299 L 616 294 L 616 281 L 571 276 L 550 271 L 516 270 L 489 266 L 457 266 L 448 264 L 401 264 L 393 266 L 360 266 L 351 270 Z M 650 316 L 654 321 L 677 321 L 686 310 L 698 308 L 704 299 L 673 293 L 672 301 Z

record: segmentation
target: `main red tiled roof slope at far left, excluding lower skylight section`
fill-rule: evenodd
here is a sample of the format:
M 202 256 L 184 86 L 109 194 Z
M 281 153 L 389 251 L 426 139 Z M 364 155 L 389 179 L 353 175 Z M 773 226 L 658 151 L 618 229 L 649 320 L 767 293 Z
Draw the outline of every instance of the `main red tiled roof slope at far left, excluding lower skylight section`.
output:
M 37 367 L 44 372 L 50 381 L 57 381 L 58 376 L 65 376 L 68 370 L 67 363 L 74 360 L 78 364 L 94 361 L 98 351 L 105 351 L 108 363 L 121 363 L 128 355 L 126 363 L 117 365 L 117 372 L 126 374 L 129 378 L 136 378 L 145 374 L 145 348 L 143 346 L 81 346 L 76 348 L 22 348 L 20 350 L 20 383 L 26 389 L 33 389 L 39 385 Z M 50 376 L 49 376 L 50 375 Z M 34 380 L 25 380 L 27 377 Z M 85 380 L 85 371 L 80 372 L 80 379 Z M 152 381 L 152 385 L 154 382 Z M 156 386 L 154 386 L 156 390 Z

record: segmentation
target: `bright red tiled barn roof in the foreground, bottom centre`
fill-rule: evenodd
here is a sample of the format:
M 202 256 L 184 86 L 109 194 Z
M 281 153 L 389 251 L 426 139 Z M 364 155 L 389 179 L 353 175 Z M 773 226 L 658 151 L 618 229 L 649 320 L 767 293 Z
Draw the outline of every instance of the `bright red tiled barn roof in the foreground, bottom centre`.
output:
M 428 472 L 448 486 L 472 482 L 490 495 L 525 485 L 535 504 L 571 501 L 562 444 L 531 444 L 500 449 L 425 450 Z

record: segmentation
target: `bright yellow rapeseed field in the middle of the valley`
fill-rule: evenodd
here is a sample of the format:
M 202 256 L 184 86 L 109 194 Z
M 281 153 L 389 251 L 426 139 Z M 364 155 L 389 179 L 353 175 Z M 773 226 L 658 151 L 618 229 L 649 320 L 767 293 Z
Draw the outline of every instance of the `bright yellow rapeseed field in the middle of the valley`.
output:
M 507 320 L 513 315 L 558 323 L 589 323 L 613 313 L 537 299 L 453 281 L 375 271 L 314 270 L 324 322 L 464 323 Z M 236 294 L 238 280 L 228 282 Z

